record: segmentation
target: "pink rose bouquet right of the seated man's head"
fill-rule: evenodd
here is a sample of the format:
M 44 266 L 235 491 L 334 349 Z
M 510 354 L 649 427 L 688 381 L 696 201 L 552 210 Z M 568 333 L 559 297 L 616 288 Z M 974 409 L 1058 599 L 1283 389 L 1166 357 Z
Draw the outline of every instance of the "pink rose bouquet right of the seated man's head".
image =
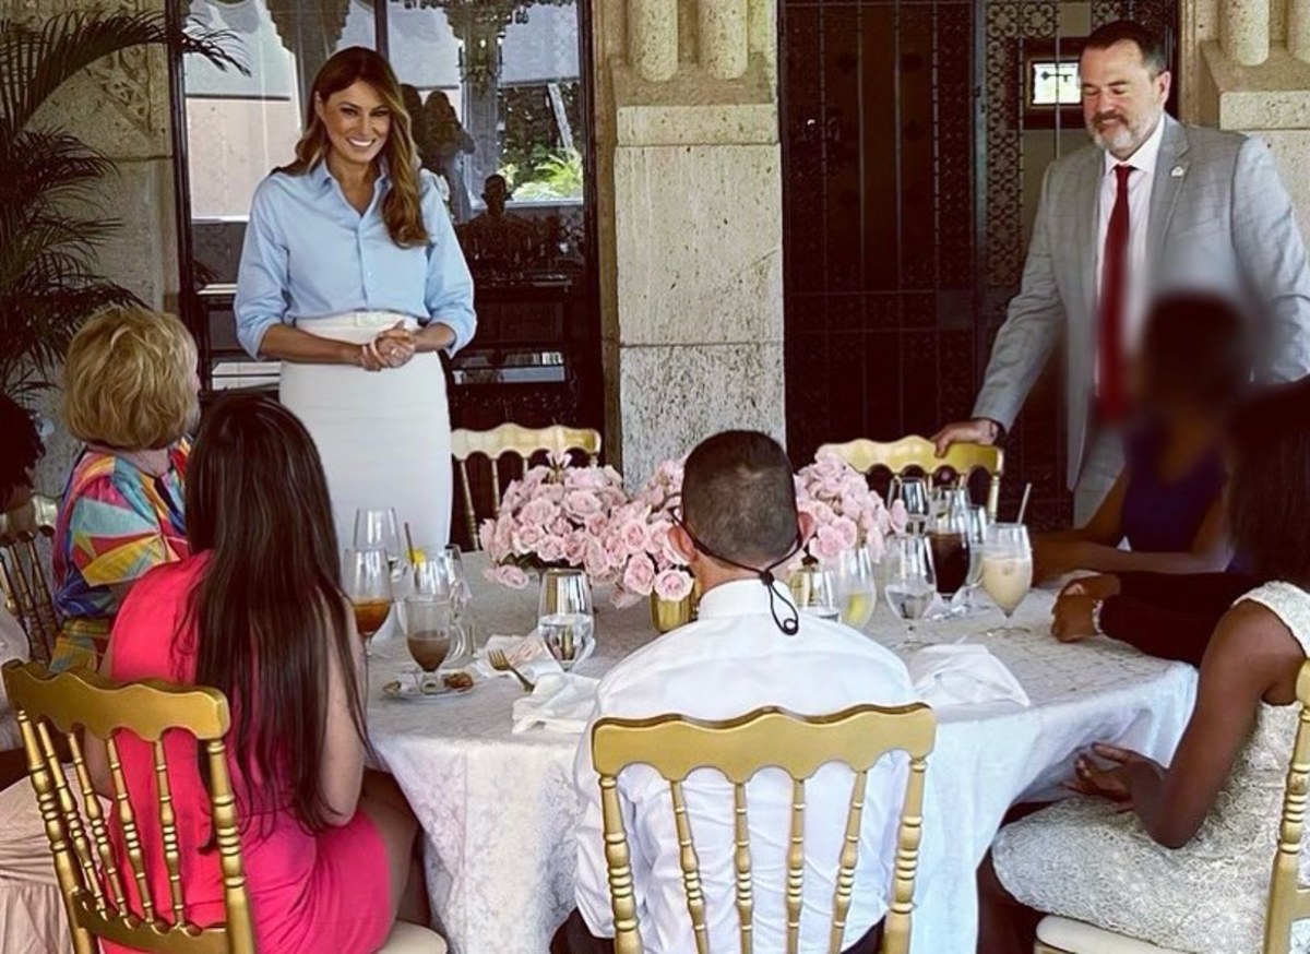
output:
M 905 529 L 904 505 L 897 501 L 888 510 L 865 474 L 833 453 L 820 455 L 796 474 L 796 510 L 814 518 L 804 554 L 820 563 L 857 546 L 867 546 L 878 561 L 887 535 Z

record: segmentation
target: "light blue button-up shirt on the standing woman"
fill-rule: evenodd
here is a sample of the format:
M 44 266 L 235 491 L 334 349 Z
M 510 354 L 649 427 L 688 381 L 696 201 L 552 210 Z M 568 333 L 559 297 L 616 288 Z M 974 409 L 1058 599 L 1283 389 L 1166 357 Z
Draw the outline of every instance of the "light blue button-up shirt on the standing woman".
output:
M 419 197 L 428 245 L 401 248 L 383 221 L 384 174 L 360 215 L 320 162 L 304 176 L 270 174 L 254 193 L 237 275 L 237 339 L 259 356 L 276 324 L 303 325 L 348 312 L 397 312 L 455 332 L 453 355 L 477 329 L 473 278 L 441 202 L 422 170 Z

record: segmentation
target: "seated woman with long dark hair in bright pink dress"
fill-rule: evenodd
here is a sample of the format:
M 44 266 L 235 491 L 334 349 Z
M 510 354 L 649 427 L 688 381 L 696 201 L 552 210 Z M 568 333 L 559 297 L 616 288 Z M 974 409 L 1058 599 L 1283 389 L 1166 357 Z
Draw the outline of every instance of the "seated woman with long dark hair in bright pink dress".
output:
M 220 401 L 191 455 L 186 506 L 193 556 L 132 588 L 103 671 L 227 695 L 259 951 L 377 950 L 398 913 L 426 920 L 413 878 L 418 826 L 394 782 L 364 771 L 362 645 L 309 434 L 271 398 Z M 148 805 L 152 748 L 118 744 L 128 790 Z M 98 768 L 103 748 L 88 748 Z M 165 751 L 187 916 L 216 923 L 223 882 L 196 743 L 166 736 Z M 166 898 L 157 820 L 140 812 L 138 826 L 153 896 Z

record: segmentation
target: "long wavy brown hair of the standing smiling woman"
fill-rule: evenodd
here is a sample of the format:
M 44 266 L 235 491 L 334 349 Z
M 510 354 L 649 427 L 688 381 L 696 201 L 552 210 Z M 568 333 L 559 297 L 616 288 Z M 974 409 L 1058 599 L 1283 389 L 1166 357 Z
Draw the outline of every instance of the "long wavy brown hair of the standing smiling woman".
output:
M 328 160 L 331 143 L 314 104 L 322 102 L 326 106 L 334 93 L 348 89 L 360 80 L 377 92 L 392 113 L 390 131 L 383 145 L 386 174 L 390 178 L 390 187 L 383 198 L 383 221 L 386 223 L 386 233 L 401 248 L 426 245 L 428 235 L 423 225 L 423 206 L 419 200 L 418 149 L 414 147 L 413 121 L 390 64 L 368 47 L 347 47 L 324 63 L 309 94 L 305 134 L 296 143 L 296 161 L 279 166 L 278 172 L 304 176 Z

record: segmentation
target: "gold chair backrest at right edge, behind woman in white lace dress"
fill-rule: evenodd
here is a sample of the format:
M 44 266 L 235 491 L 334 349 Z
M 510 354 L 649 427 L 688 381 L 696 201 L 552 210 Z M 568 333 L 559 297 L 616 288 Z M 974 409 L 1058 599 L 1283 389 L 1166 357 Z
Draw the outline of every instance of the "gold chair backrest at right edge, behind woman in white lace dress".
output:
M 1292 950 L 1292 923 L 1310 917 L 1310 887 L 1301 883 L 1300 870 L 1306 797 L 1310 793 L 1310 660 L 1302 663 L 1297 676 L 1297 702 L 1301 718 L 1282 795 L 1279 845 L 1273 853 L 1269 904 L 1264 917 L 1264 954 L 1288 954 Z

